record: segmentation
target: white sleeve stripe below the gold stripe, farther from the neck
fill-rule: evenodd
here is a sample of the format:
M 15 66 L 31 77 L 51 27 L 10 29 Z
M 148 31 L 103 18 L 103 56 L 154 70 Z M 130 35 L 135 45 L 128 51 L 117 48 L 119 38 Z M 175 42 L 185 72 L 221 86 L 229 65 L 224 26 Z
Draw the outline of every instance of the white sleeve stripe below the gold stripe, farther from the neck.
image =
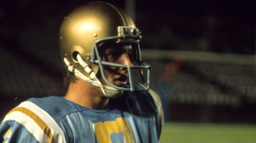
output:
M 18 118 L 17 118 L 18 117 Z M 44 133 L 40 126 L 28 115 L 20 112 L 13 111 L 6 115 L 3 122 L 7 120 L 14 120 L 21 125 L 24 125 L 26 129 L 33 134 L 33 136 L 39 141 L 50 142 L 50 138 Z M 42 142 L 41 142 L 42 143 Z

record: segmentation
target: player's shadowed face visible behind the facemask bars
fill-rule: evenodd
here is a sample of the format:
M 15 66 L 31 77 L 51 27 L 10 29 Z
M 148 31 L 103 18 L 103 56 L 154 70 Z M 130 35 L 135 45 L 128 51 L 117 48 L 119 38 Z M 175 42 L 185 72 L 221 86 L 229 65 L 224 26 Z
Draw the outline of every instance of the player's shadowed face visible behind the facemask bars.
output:
M 102 61 L 132 65 L 129 55 L 132 52 L 132 46 L 127 44 L 113 44 L 103 48 L 101 52 Z M 104 74 L 107 80 L 119 87 L 126 85 L 126 79 L 128 78 L 128 69 L 114 66 L 104 66 Z M 109 86 L 104 79 L 100 76 L 100 82 L 103 85 Z

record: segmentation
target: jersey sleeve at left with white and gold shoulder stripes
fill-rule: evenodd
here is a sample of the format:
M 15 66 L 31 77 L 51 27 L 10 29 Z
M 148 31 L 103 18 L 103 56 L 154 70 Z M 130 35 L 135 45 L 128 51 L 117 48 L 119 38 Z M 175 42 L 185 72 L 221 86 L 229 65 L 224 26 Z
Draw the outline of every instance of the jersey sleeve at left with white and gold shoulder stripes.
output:
M 65 143 L 62 130 L 40 107 L 22 102 L 7 113 L 0 125 L 1 143 Z

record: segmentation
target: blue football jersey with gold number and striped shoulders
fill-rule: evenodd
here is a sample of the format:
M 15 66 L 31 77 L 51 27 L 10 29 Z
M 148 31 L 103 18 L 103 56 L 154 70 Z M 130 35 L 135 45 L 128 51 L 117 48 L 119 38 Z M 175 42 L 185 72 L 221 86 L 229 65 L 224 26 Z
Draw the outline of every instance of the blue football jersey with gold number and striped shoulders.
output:
M 30 98 L 0 125 L 3 143 L 157 143 L 163 125 L 159 96 L 152 90 L 124 92 L 102 110 L 64 97 Z

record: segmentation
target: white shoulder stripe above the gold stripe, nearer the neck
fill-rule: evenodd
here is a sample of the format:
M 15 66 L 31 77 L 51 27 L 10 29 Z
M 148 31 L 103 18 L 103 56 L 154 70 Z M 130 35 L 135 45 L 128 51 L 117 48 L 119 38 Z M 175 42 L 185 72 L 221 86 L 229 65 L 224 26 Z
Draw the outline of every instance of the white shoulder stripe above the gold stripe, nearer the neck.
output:
M 56 143 L 65 143 L 65 137 L 64 137 L 63 131 L 61 130 L 59 125 L 57 125 L 55 120 L 46 111 L 44 111 L 43 109 L 38 107 L 36 104 L 30 101 L 22 102 L 17 107 L 24 107 L 36 113 L 37 116 L 39 116 L 44 121 L 44 123 L 50 128 Z

